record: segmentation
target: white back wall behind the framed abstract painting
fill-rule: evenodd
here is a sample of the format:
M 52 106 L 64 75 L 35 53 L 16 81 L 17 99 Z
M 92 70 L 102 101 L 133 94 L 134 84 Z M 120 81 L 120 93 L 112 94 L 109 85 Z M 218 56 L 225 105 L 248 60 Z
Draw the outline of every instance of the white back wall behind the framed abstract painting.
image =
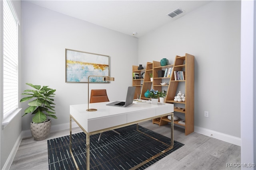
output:
M 93 84 L 90 89 L 106 88 L 110 100 L 124 100 L 127 87 L 132 85 L 132 65 L 138 63 L 136 37 L 28 2 L 22 2 L 22 21 L 22 90 L 29 88 L 26 82 L 56 89 L 58 119 L 53 119 L 52 125 L 69 123 L 69 106 L 87 103 L 86 83 L 65 82 L 66 48 L 109 55 L 110 76 L 115 81 Z M 31 115 L 22 117 L 23 131 L 29 129 L 30 121 Z

